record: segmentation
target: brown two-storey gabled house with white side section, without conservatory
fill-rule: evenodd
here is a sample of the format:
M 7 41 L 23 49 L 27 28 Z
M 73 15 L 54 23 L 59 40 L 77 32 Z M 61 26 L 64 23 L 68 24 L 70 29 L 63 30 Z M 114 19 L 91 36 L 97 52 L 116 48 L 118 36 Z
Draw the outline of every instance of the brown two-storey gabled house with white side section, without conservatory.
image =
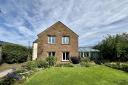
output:
M 51 56 L 63 63 L 78 54 L 78 35 L 60 21 L 39 33 L 33 42 L 33 60 Z

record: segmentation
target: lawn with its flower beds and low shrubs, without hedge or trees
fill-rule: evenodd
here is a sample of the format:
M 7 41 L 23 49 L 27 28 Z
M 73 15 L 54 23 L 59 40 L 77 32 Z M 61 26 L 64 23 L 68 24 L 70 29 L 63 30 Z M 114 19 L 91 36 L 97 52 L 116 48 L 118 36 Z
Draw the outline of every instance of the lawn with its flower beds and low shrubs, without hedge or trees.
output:
M 73 58 L 74 59 L 74 58 Z M 28 61 L 9 73 L 1 85 L 127 85 L 128 73 L 106 64 L 95 64 L 88 58 L 56 64 L 56 58 Z M 76 62 L 78 62 L 76 64 Z M 115 64 L 116 65 L 116 64 Z M 93 81 L 93 82 L 92 82 Z

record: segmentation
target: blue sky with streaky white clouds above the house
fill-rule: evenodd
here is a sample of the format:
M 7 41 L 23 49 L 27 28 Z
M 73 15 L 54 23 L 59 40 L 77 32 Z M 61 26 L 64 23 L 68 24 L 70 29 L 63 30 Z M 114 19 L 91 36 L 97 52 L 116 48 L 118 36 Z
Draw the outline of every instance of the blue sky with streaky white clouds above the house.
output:
M 0 40 L 28 46 L 57 21 L 79 35 L 79 46 L 128 32 L 128 0 L 0 0 Z

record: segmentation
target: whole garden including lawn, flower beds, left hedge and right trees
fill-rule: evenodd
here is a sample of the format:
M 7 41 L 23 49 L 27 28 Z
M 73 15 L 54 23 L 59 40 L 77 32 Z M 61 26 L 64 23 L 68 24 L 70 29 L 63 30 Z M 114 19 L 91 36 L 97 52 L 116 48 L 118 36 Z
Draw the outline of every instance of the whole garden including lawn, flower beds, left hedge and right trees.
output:
M 31 50 L 5 45 L 5 63 L 20 68 L 0 79 L 0 85 L 128 85 L 128 34 L 108 36 L 94 48 L 97 58 L 70 57 L 56 63 L 55 56 L 31 61 Z

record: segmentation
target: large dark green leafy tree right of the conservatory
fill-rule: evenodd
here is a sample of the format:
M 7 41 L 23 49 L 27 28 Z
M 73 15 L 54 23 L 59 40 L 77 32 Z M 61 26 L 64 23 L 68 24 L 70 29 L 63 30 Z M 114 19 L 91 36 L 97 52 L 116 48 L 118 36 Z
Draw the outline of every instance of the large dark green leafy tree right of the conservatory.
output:
M 109 61 L 128 61 L 128 34 L 109 35 L 95 46 L 102 58 Z

